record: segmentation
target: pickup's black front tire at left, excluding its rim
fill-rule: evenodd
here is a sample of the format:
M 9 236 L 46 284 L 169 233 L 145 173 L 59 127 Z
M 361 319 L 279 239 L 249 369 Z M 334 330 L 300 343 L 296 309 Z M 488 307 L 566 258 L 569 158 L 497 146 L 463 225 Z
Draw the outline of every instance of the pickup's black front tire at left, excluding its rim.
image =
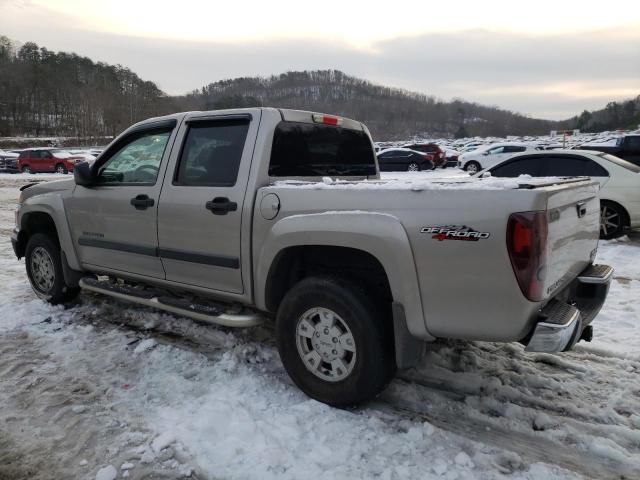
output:
M 53 275 L 50 287 L 45 287 L 38 282 L 40 273 L 34 272 L 34 252 L 36 255 L 42 255 L 42 250 L 46 251 L 51 260 L 51 268 L 48 269 Z M 67 303 L 78 296 L 79 287 L 69 287 L 64 282 L 64 274 L 62 272 L 62 259 L 60 257 L 60 245 L 56 239 L 44 233 L 34 234 L 27 242 L 25 251 L 25 265 L 27 268 L 27 277 L 31 283 L 31 288 L 38 297 L 47 302 L 57 305 L 59 303 Z

